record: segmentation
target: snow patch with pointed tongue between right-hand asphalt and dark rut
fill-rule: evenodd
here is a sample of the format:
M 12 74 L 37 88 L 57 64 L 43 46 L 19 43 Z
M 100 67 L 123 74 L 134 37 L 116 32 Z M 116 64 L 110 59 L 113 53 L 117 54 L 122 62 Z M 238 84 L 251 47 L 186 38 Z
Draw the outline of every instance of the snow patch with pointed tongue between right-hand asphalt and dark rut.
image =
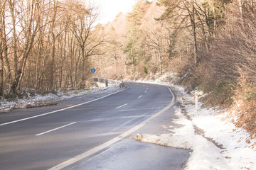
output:
M 177 119 L 174 123 L 181 128 L 171 130 L 172 133 L 161 135 L 143 134 L 139 139 L 142 142 L 154 143 L 168 147 L 191 149 L 191 157 L 188 159 L 187 169 L 232 169 L 221 151 L 212 142 L 202 135 L 197 135 L 193 123 L 181 113 L 180 108 L 175 108 Z M 171 127 L 170 127 L 171 128 Z M 135 137 L 136 139 L 136 137 Z

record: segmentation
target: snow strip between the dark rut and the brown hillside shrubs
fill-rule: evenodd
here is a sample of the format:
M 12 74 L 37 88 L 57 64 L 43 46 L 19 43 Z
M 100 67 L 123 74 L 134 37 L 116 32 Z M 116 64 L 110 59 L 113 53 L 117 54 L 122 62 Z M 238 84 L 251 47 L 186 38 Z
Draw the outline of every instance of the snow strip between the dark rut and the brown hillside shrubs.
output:
M 180 91 L 181 88 L 179 87 Z M 182 91 L 183 92 L 183 91 Z M 196 111 L 193 103 L 194 98 L 183 92 L 178 96 L 178 101 L 185 106 L 186 114 L 191 122 L 204 132 L 204 136 L 211 138 L 221 145 L 222 154 L 227 159 L 232 169 L 256 169 L 256 139 L 250 140 L 250 134 L 241 128 L 235 128 L 230 120 L 225 119 L 224 114 L 218 114 L 214 109 L 202 108 L 198 103 L 199 111 Z M 250 140 L 250 143 L 248 143 Z

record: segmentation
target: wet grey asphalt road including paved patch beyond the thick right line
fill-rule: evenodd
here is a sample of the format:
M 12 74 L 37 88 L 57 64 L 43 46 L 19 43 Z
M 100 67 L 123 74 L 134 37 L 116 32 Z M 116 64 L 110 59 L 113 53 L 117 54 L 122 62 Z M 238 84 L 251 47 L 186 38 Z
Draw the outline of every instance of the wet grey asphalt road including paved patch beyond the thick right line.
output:
M 132 83 L 127 83 L 127 86 L 129 86 L 127 89 L 115 94 L 82 95 L 60 101 L 63 103 L 60 106 L 1 113 L 0 169 L 56 167 L 129 132 L 173 101 L 174 96 L 166 86 Z M 172 115 L 171 108 L 166 112 L 168 112 L 166 115 Z M 170 123 L 171 118 L 169 120 L 164 118 L 164 121 Z M 146 123 L 149 125 L 144 125 L 140 130 L 154 131 L 162 121 L 154 120 L 158 122 Z M 138 129 L 130 132 L 137 131 Z M 164 151 L 167 150 L 170 152 L 165 154 Z M 159 154 L 160 151 L 164 156 Z M 64 168 L 114 169 L 117 167 L 119 169 L 122 167 L 121 169 L 124 169 L 129 165 L 137 169 L 145 167 L 164 169 L 160 164 L 166 164 L 166 167 L 170 164 L 181 167 L 188 160 L 188 152 L 183 149 L 145 145 L 124 138 Z M 140 159 L 134 158 L 142 154 L 145 154 L 145 157 L 140 156 L 140 159 L 145 163 L 139 166 Z

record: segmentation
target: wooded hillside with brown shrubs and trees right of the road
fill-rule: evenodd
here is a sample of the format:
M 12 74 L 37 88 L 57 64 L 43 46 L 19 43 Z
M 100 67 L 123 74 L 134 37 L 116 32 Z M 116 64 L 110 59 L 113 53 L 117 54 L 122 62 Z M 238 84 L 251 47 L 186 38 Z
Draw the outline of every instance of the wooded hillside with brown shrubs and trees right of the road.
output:
M 125 23 L 121 13 L 102 28 L 111 43 L 100 74 L 136 80 L 174 72 L 176 83 L 207 94 L 206 106 L 229 108 L 255 137 L 255 16 L 255 1 L 138 1 Z

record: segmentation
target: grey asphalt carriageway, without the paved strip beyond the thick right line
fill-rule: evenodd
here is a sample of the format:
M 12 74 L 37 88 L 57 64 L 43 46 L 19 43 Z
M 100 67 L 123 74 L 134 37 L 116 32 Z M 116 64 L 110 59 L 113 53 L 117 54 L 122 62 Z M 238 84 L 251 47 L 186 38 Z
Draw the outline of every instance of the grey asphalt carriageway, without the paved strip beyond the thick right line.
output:
M 60 101 L 59 106 L 0 113 L 0 169 L 50 169 L 85 153 L 93 157 L 105 149 L 104 144 L 173 101 L 166 86 L 127 85 L 105 96 L 83 95 Z M 99 146 L 99 151 L 90 152 Z

